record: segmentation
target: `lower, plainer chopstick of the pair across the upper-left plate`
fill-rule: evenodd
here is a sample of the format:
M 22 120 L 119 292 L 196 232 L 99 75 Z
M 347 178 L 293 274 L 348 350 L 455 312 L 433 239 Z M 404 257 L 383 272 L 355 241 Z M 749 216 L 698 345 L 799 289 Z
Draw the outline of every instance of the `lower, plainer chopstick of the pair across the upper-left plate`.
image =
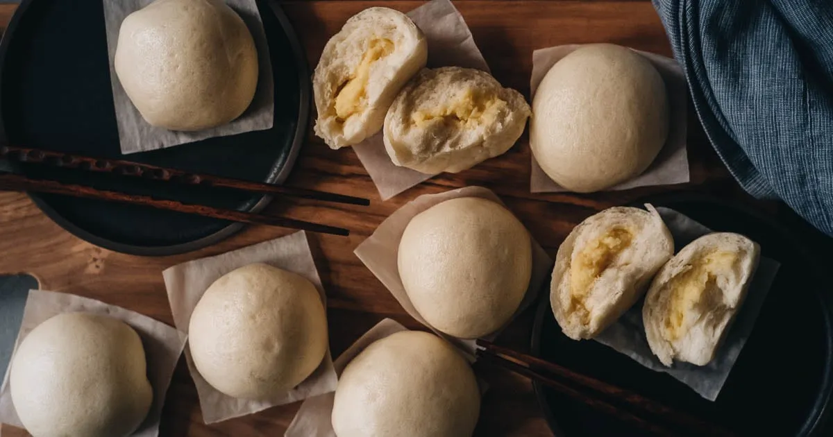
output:
M 63 184 L 58 181 L 30 179 L 12 173 L 0 173 L 0 191 L 34 191 L 40 193 L 60 194 L 64 196 L 85 197 L 103 201 L 117 201 L 131 205 L 150 206 L 160 210 L 184 212 L 196 216 L 206 216 L 228 221 L 240 221 L 258 225 L 281 226 L 303 231 L 321 232 L 337 236 L 347 236 L 350 231 L 335 226 L 320 225 L 309 221 L 300 221 L 267 214 L 227 210 L 213 206 L 192 205 L 178 201 L 154 199 L 151 196 L 138 196 L 118 191 L 98 190 L 92 186 Z

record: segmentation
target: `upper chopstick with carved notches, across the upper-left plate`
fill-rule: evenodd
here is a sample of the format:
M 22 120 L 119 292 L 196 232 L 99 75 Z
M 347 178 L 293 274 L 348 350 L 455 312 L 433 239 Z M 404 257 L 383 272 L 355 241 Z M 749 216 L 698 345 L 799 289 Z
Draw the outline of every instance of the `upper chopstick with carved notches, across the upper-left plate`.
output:
M 362 197 L 345 196 L 324 191 L 292 188 L 289 186 L 272 185 L 262 182 L 242 181 L 229 177 L 212 176 L 202 173 L 191 173 L 142 164 L 141 162 L 123 161 L 116 159 L 102 159 L 91 156 L 72 155 L 60 151 L 47 151 L 21 146 L 0 146 L 0 158 L 8 161 L 43 164 L 63 168 L 79 169 L 82 171 L 96 171 L 112 173 L 121 176 L 142 177 L 151 181 L 172 181 L 188 185 L 222 186 L 241 191 L 253 191 L 281 196 L 293 196 L 317 201 L 331 201 L 349 205 L 368 206 L 370 201 Z

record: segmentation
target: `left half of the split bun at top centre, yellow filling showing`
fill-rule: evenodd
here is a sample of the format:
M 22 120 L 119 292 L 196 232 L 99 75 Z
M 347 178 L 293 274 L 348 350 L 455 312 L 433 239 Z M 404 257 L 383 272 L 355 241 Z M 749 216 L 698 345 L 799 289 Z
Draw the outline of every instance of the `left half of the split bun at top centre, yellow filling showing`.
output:
M 427 57 L 425 37 L 402 12 L 371 7 L 351 17 L 312 77 L 316 135 L 337 149 L 382 130 L 387 108 Z

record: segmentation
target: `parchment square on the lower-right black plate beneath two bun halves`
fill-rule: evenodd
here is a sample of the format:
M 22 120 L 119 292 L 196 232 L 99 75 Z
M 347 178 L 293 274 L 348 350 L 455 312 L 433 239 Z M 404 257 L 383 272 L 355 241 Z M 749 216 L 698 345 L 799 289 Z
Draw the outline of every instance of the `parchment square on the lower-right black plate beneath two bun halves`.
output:
M 700 236 L 711 233 L 711 230 L 700 223 L 691 220 L 681 213 L 658 207 L 662 220 L 666 222 L 671 235 L 674 236 L 676 251 L 680 251 L 691 241 Z M 758 269 L 749 286 L 746 300 L 741 306 L 734 324 L 731 325 L 726 341 L 717 350 L 715 359 L 705 366 L 690 363 L 675 362 L 671 367 L 662 365 L 660 360 L 651 353 L 648 340 L 645 338 L 645 325 L 642 324 L 642 305 L 640 300 L 622 315 L 615 324 L 604 330 L 596 337 L 596 341 L 621 352 L 648 369 L 664 372 L 676 380 L 691 387 L 707 400 L 716 400 L 720 394 L 726 378 L 729 377 L 732 366 L 752 332 L 755 320 L 761 313 L 766 295 L 770 291 L 772 281 L 775 280 L 778 268 L 777 261 L 761 256 Z

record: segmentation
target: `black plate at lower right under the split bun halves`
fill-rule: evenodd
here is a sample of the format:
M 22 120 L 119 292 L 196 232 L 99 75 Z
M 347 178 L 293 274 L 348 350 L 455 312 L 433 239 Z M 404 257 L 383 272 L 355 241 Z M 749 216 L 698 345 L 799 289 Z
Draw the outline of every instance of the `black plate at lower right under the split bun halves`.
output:
M 801 242 L 766 217 L 721 201 L 689 196 L 648 201 L 713 230 L 749 236 L 761 244 L 763 256 L 781 262 L 755 328 L 717 400 L 704 400 L 671 376 L 647 370 L 604 345 L 568 339 L 547 298 L 538 307 L 533 353 L 724 425 L 737 435 L 829 435 L 821 424 L 833 384 L 831 287 Z M 646 435 L 542 385 L 536 384 L 535 390 L 559 437 Z

